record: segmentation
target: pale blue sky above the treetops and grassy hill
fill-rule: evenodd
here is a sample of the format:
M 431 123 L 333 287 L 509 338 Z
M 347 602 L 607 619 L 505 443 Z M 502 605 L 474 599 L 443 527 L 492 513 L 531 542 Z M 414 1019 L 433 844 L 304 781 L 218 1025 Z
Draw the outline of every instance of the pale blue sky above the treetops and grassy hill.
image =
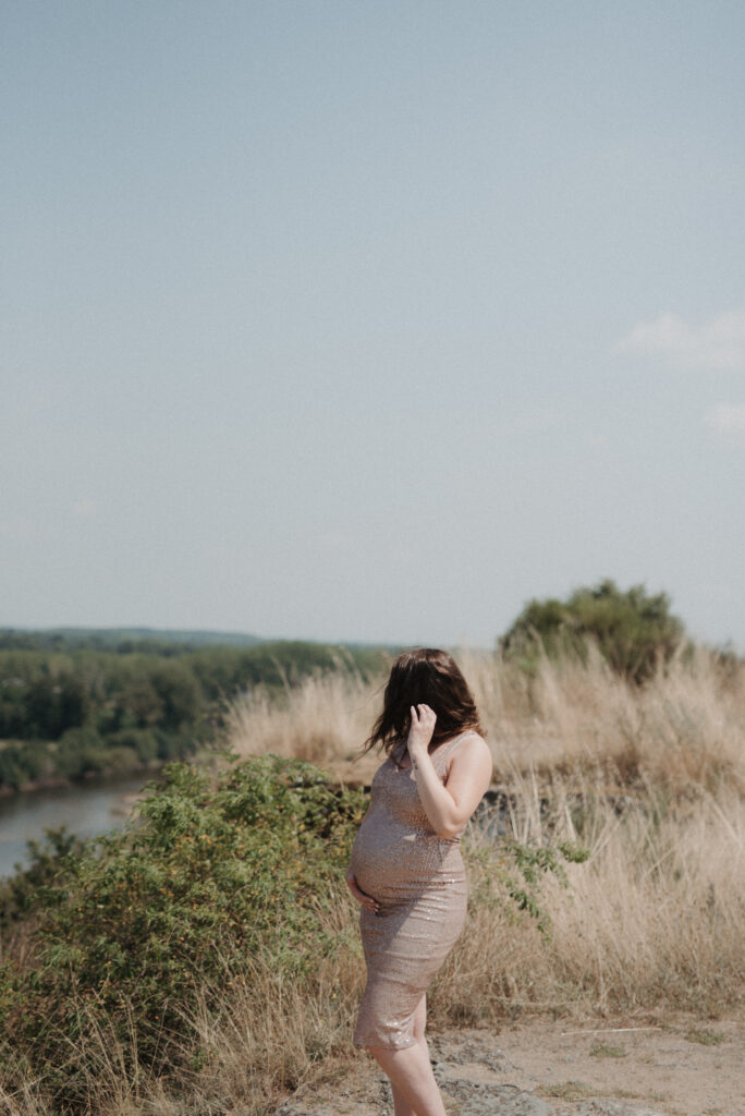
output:
M 0 12 L 0 625 L 745 650 L 739 0 Z

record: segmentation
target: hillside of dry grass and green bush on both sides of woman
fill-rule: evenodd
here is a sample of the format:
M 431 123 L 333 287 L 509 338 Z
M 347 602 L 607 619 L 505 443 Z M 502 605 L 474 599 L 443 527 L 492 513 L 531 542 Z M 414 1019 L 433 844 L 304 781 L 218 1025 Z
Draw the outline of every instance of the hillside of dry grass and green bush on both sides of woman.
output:
M 745 666 L 698 648 L 644 685 L 591 647 L 530 674 L 462 666 L 495 781 L 465 837 L 467 924 L 432 1026 L 745 1010 Z M 236 698 L 211 770 L 174 764 L 130 827 L 58 836 L 10 882 L 0 1081 L 16 1116 L 260 1116 L 360 1057 L 342 877 L 364 792 L 335 783 L 369 778 L 375 759 L 354 757 L 383 681 L 333 671 L 281 701 Z

